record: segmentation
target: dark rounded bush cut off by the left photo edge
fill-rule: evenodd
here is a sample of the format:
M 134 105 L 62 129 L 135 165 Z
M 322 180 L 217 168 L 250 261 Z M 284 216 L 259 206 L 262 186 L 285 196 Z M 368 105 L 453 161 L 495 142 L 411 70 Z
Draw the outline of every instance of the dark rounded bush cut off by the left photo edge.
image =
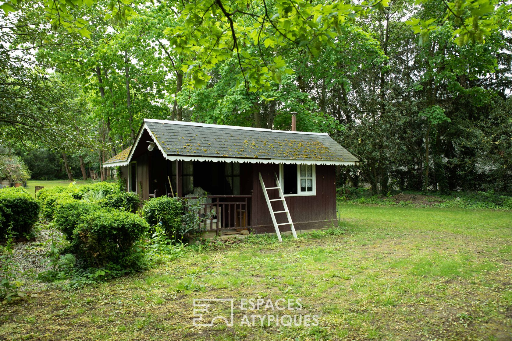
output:
M 0 238 L 7 234 L 9 224 L 18 236 L 30 233 L 39 216 L 39 204 L 22 187 L 0 190 Z

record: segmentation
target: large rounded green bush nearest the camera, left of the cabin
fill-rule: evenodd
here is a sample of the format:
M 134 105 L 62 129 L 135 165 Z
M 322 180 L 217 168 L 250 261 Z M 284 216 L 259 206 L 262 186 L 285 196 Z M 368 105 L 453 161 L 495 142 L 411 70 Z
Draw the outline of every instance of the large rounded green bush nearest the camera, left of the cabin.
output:
M 150 226 L 133 213 L 100 209 L 83 217 L 73 231 L 73 246 L 77 256 L 90 266 L 112 264 L 123 269 L 140 268 L 141 253 L 135 243 Z

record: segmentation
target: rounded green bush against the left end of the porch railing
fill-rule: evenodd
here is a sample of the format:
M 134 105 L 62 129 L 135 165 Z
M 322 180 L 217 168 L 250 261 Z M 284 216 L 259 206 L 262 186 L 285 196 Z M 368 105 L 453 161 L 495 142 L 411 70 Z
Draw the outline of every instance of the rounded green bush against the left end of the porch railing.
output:
M 183 206 L 177 198 L 166 196 L 152 198 L 144 203 L 142 213 L 151 226 L 161 221 L 168 236 L 175 236 L 181 228 Z

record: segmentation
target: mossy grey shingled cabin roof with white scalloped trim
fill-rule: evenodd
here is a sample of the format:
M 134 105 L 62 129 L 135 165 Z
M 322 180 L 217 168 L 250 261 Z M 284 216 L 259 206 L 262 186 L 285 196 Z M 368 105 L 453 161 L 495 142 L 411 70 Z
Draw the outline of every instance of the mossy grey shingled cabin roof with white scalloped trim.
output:
M 359 162 L 326 133 L 145 119 L 134 146 L 144 130 L 168 160 L 331 165 Z M 127 164 L 133 150 L 124 162 L 120 155 L 126 149 L 105 167 Z

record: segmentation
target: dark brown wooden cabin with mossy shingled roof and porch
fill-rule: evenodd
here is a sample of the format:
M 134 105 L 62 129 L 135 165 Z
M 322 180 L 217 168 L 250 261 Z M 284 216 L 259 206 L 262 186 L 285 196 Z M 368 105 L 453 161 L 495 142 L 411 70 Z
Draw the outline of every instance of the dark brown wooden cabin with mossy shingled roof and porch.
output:
M 127 190 L 143 200 L 190 196 L 200 187 L 211 200 L 204 211 L 220 212 L 205 222 L 207 230 L 259 234 L 275 232 L 259 174 L 265 187 L 276 187 L 274 174 L 280 180 L 295 230 L 321 229 L 337 225 L 336 166 L 357 162 L 328 134 L 146 119 L 134 145 L 103 167 L 119 166 Z M 279 198 L 279 191 L 268 195 Z M 271 204 L 283 210 L 282 201 Z

